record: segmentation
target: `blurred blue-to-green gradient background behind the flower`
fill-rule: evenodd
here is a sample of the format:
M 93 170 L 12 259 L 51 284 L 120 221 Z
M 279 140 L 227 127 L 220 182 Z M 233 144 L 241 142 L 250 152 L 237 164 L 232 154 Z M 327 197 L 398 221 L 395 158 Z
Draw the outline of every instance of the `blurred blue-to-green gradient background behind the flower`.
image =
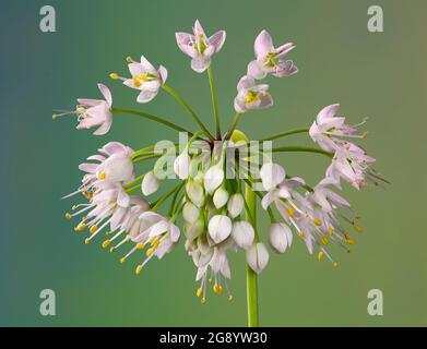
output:
M 206 32 L 227 31 L 214 59 L 223 123 L 233 117 L 236 83 L 252 59 L 253 39 L 268 28 L 276 44 L 292 40 L 300 72 L 270 79 L 275 107 L 250 112 L 241 129 L 251 139 L 307 127 L 325 105 L 340 101 L 351 123 L 369 116 L 366 147 L 392 182 L 386 191 L 344 194 L 363 216 L 365 231 L 353 253 L 332 249 L 332 268 L 310 256 L 297 239 L 272 255 L 260 277 L 265 326 L 427 325 L 426 246 L 426 1 L 49 1 L 57 33 L 38 29 L 46 1 L 1 1 L 1 209 L 0 325 L 35 326 L 244 326 L 245 256 L 232 253 L 235 300 L 194 296 L 195 269 L 180 246 L 134 276 L 140 258 L 121 265 L 98 243 L 84 245 L 63 219 L 71 201 L 60 196 L 80 181 L 76 166 L 111 140 L 140 148 L 177 135 L 151 121 L 117 117 L 102 137 L 76 132 L 72 118 L 51 121 L 55 108 L 76 97 L 98 97 L 110 86 L 116 107 L 140 108 L 190 127 L 166 94 L 137 105 L 137 94 L 108 79 L 127 74 L 124 58 L 142 52 L 167 67 L 168 83 L 211 122 L 209 83 L 190 70 L 174 33 L 195 19 Z M 384 33 L 368 33 L 367 9 L 381 4 Z M 212 123 L 211 123 L 212 125 Z M 310 144 L 304 135 L 277 145 Z M 319 180 L 328 161 L 284 154 L 289 173 Z M 261 220 L 261 232 L 266 219 Z M 265 237 L 265 234 L 263 234 Z M 263 238 L 265 240 L 265 238 Z M 100 243 L 100 240 L 97 240 Z M 39 314 L 39 292 L 57 296 L 57 316 Z M 384 294 L 384 315 L 367 314 L 367 293 Z

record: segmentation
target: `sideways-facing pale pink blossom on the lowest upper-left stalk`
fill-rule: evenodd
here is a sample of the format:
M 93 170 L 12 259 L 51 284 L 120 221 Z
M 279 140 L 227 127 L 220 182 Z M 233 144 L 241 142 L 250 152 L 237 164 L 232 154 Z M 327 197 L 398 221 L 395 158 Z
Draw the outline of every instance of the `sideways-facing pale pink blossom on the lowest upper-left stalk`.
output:
M 104 84 L 98 84 L 98 88 L 104 99 L 79 98 L 74 111 L 63 111 L 54 113 L 52 119 L 68 115 L 78 116 L 78 130 L 88 130 L 97 128 L 94 135 L 106 134 L 112 124 L 112 96 L 109 88 Z

